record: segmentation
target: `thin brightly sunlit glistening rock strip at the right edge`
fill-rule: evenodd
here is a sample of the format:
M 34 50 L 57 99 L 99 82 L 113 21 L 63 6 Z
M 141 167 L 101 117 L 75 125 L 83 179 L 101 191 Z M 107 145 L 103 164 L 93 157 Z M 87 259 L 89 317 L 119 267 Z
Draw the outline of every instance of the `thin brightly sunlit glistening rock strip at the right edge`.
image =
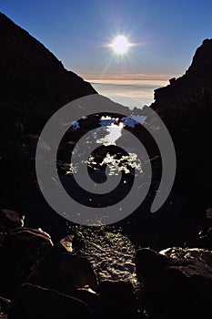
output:
M 174 259 L 194 259 L 204 262 L 208 267 L 212 267 L 212 252 L 206 249 L 173 247 L 167 248 L 160 253 Z

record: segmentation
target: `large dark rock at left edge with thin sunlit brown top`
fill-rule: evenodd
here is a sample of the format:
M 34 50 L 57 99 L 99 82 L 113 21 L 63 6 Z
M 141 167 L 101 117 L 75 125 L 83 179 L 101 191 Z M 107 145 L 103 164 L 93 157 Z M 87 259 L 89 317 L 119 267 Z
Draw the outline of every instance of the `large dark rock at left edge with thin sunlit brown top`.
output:
M 5 234 L 0 248 L 0 293 L 13 297 L 25 283 L 35 263 L 52 247 L 50 236 L 42 230 L 15 228 Z

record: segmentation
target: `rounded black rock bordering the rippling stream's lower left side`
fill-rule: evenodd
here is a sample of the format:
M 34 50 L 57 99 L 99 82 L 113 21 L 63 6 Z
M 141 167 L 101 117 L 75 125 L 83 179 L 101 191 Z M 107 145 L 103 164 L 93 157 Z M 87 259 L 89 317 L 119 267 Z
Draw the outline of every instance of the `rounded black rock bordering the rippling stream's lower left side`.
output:
M 96 273 L 84 257 L 66 252 L 64 247 L 53 247 L 30 274 L 28 282 L 56 289 L 61 293 L 72 293 L 76 287 L 88 285 L 97 289 Z

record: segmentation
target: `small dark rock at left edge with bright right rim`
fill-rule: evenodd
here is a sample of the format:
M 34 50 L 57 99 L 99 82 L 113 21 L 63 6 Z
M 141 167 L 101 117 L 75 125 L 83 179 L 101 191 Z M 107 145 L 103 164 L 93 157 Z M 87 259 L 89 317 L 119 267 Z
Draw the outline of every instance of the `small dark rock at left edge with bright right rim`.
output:
M 0 210 L 0 222 L 6 229 L 24 226 L 25 216 L 17 211 Z M 0 227 L 1 229 L 1 227 Z

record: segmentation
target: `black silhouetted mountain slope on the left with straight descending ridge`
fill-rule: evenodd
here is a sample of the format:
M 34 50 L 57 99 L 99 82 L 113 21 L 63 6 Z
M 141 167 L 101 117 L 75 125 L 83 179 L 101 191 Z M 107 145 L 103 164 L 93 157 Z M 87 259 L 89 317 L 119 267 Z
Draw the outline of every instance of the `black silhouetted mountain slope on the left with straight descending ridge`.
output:
M 96 90 L 2 13 L 0 47 L 0 205 L 14 207 L 17 190 L 35 189 L 26 140 L 32 149 L 56 109 Z

